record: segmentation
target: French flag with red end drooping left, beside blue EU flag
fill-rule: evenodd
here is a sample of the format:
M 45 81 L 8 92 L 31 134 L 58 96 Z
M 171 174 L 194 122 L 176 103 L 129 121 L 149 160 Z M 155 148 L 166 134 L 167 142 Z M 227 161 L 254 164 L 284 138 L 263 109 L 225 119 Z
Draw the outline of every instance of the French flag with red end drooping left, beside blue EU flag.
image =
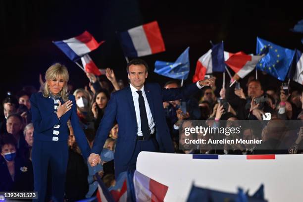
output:
M 223 42 L 214 45 L 199 58 L 193 82 L 203 80 L 205 74 L 212 72 L 225 72 Z

